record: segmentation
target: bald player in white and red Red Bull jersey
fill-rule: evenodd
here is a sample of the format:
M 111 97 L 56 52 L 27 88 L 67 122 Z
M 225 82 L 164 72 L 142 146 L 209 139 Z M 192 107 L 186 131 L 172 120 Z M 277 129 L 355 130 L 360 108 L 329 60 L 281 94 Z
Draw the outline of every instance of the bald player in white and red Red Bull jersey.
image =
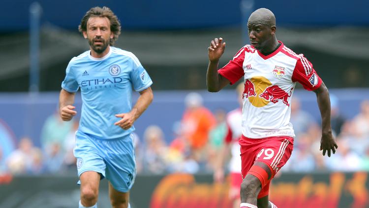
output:
M 215 38 L 208 47 L 207 87 L 217 92 L 244 77 L 242 117 L 241 208 L 276 208 L 269 202 L 269 184 L 287 162 L 293 149 L 291 97 L 296 82 L 314 91 L 322 118 L 320 150 L 331 156 L 338 148 L 332 136 L 328 89 L 312 64 L 276 37 L 276 18 L 269 9 L 254 11 L 247 21 L 251 45 L 245 45 L 233 60 L 218 69 L 225 42 Z

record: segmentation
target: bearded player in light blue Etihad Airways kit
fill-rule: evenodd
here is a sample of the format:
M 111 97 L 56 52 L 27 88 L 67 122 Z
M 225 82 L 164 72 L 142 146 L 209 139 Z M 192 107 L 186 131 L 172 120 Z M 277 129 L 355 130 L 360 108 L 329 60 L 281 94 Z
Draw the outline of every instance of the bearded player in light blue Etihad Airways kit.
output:
M 91 8 L 79 31 L 90 50 L 69 62 L 59 101 L 62 119 L 71 120 L 77 114 L 75 93 L 81 89 L 82 114 L 74 148 L 81 185 L 79 208 L 97 207 L 99 181 L 104 177 L 109 180 L 113 208 L 129 208 L 136 175 L 133 123 L 153 100 L 153 82 L 131 52 L 112 46 L 121 25 L 108 7 Z M 140 93 L 133 107 L 132 88 Z

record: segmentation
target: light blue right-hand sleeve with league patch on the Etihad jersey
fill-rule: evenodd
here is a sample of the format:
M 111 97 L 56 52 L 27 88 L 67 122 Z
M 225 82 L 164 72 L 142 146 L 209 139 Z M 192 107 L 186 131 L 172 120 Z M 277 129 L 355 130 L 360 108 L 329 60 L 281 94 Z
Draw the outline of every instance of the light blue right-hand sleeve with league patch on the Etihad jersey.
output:
M 133 89 L 137 92 L 141 92 L 150 87 L 153 84 L 153 81 L 134 55 L 132 62 L 132 70 L 129 73 L 129 78 L 132 82 Z

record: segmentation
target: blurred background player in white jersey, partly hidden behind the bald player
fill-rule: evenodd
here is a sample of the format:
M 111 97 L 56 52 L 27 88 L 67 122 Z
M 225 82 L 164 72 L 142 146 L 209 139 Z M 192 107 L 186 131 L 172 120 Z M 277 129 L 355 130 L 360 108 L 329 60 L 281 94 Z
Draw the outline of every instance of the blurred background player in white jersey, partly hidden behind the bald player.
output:
M 230 175 L 230 190 L 229 198 L 233 201 L 233 207 L 238 208 L 241 203 L 240 199 L 240 187 L 242 183 L 241 175 L 241 157 L 240 157 L 240 144 L 238 143 L 242 135 L 242 96 L 245 89 L 244 83 L 237 85 L 237 98 L 240 107 L 227 113 L 227 135 L 224 138 L 223 148 L 220 151 L 217 166 L 214 172 L 214 180 L 221 182 L 224 179 L 223 165 L 225 160 L 231 151 L 231 159 L 229 162 L 229 175 Z

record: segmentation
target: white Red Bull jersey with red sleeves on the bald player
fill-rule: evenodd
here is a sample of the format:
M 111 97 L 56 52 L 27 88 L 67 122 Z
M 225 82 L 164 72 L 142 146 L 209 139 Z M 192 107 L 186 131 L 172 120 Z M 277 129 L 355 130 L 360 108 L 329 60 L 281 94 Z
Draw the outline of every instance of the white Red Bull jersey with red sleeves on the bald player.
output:
M 312 64 L 279 42 L 270 55 L 246 45 L 218 72 L 231 84 L 244 77 L 242 134 L 246 138 L 295 137 L 290 123 L 296 82 L 315 90 L 322 83 Z

